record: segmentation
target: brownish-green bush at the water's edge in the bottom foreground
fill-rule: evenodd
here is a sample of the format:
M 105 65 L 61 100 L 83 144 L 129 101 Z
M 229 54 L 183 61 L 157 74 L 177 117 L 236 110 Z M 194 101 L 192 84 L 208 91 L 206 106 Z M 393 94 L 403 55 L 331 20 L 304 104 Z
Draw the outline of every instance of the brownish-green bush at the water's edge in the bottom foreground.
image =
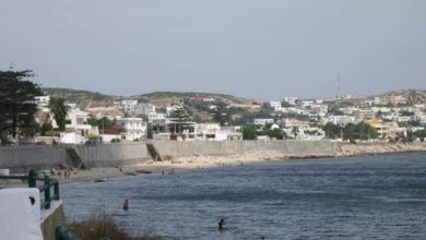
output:
M 72 223 L 68 228 L 81 240 L 110 239 L 110 240 L 161 240 L 161 236 L 149 230 L 140 236 L 132 237 L 123 226 L 118 225 L 113 217 L 105 213 L 93 214 L 87 220 Z

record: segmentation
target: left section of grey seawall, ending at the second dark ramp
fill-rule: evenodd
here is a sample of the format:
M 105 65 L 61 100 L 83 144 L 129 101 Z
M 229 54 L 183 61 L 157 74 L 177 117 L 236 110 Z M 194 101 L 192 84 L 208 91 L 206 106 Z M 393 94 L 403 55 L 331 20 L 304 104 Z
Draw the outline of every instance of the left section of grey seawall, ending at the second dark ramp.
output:
M 0 147 L 0 169 L 11 169 L 11 173 L 28 172 L 72 166 L 73 160 L 67 147 L 74 148 L 87 167 L 115 167 L 134 165 L 150 160 L 144 142 L 87 145 L 43 145 Z M 75 167 L 75 166 L 74 166 Z

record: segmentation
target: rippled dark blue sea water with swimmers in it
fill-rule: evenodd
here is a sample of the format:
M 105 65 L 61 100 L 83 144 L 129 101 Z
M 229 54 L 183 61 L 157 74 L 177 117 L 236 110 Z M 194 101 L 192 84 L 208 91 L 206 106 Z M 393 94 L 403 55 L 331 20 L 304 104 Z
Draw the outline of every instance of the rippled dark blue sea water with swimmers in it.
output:
M 100 208 L 165 239 L 426 239 L 424 153 L 141 175 L 61 194 L 68 218 Z

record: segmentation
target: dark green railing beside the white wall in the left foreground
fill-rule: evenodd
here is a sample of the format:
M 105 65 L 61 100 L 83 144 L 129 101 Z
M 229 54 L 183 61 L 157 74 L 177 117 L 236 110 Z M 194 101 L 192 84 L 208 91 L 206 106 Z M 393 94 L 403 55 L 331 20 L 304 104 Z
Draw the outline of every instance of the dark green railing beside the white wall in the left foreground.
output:
M 39 175 L 43 173 L 43 177 L 39 177 Z M 49 176 L 47 176 L 45 172 L 37 172 L 35 170 L 31 170 L 28 175 L 20 175 L 20 176 L 0 176 L 0 180 L 22 180 L 28 181 L 29 188 L 38 188 L 40 193 L 44 193 L 44 201 L 40 204 L 42 209 L 49 209 L 51 201 L 58 201 L 59 200 L 59 182 L 56 179 L 51 179 Z M 37 187 L 37 181 L 43 181 L 44 184 Z M 54 188 L 54 194 L 51 195 L 50 189 Z

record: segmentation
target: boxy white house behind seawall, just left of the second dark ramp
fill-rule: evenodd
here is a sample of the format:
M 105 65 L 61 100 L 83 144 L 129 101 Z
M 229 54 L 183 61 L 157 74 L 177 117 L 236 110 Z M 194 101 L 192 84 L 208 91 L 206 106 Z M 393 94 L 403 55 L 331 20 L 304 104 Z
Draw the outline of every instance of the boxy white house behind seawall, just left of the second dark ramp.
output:
M 146 139 L 146 122 L 141 118 L 119 118 L 117 123 L 122 127 L 123 140 L 138 141 Z

